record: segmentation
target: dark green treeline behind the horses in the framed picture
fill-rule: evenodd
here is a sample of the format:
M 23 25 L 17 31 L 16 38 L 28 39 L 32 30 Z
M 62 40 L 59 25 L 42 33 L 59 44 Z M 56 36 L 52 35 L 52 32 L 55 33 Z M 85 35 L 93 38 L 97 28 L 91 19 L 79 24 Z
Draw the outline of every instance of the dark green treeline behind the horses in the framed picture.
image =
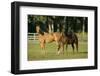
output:
M 68 31 L 68 28 L 74 32 L 88 32 L 87 17 L 28 15 L 28 32 L 36 33 L 36 25 L 45 32 L 48 32 L 49 28 L 53 32 Z

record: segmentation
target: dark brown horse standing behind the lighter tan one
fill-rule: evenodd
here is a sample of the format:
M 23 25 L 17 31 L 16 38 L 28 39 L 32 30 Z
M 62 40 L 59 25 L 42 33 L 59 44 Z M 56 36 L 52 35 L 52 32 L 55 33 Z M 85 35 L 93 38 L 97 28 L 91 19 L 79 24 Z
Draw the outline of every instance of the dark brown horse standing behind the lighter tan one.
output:
M 62 37 L 61 37 L 61 43 L 60 43 L 60 46 L 59 48 L 61 48 L 62 46 L 62 51 L 59 51 L 62 52 L 64 54 L 64 45 L 66 45 L 66 51 L 67 51 L 67 48 L 68 48 L 68 45 L 71 45 L 72 46 L 72 49 L 73 49 L 73 53 L 74 53 L 74 44 L 76 45 L 76 50 L 78 52 L 78 37 L 75 33 L 72 33 L 72 34 L 68 34 L 68 33 L 63 33 L 62 34 Z

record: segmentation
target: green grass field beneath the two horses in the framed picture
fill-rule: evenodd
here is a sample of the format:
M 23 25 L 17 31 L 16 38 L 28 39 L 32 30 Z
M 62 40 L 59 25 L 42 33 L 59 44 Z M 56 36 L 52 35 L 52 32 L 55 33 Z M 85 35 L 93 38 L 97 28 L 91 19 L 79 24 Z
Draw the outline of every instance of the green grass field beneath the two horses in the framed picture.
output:
M 88 44 L 87 41 L 79 41 L 79 52 L 73 54 L 71 45 L 64 48 L 64 55 L 57 55 L 57 46 L 55 42 L 46 44 L 46 55 L 43 55 L 43 51 L 40 48 L 39 42 L 33 42 L 28 40 L 28 60 L 56 60 L 56 59 L 82 59 L 88 57 Z

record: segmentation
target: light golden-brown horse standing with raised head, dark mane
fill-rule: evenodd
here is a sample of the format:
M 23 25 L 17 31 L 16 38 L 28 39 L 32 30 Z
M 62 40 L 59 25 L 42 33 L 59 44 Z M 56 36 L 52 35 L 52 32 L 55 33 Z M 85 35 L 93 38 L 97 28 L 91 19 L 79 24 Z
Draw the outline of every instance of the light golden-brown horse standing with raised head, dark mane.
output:
M 45 54 L 46 54 L 45 44 L 46 43 L 51 43 L 53 41 L 55 41 L 56 45 L 58 46 L 58 52 L 57 52 L 57 54 L 60 54 L 59 50 L 61 48 L 62 33 L 60 33 L 60 32 L 54 32 L 54 33 L 43 32 L 40 29 L 39 25 L 36 26 L 36 32 L 39 34 L 38 38 L 39 38 L 39 41 L 40 41 L 40 47 L 41 47 L 42 50 L 44 50 Z

